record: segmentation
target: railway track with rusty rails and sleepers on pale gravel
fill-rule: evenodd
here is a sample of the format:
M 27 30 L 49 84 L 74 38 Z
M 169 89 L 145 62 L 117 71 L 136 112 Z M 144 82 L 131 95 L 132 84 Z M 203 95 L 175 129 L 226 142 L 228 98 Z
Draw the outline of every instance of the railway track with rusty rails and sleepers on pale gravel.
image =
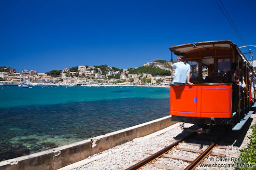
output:
M 217 143 L 219 141 L 221 141 L 223 139 L 223 137 L 225 136 L 225 134 L 228 131 L 224 131 L 221 135 L 219 135 L 212 144 L 210 144 L 207 149 L 205 149 L 204 151 L 202 150 L 196 150 L 196 149 L 191 149 L 191 147 L 193 148 L 195 145 L 199 145 L 199 144 L 193 144 L 193 143 L 186 143 L 188 145 L 191 145 L 190 148 L 184 148 L 182 146 L 180 146 L 182 144 L 182 142 L 185 142 L 185 140 L 191 139 L 191 138 L 198 138 L 199 136 L 196 135 L 196 133 L 191 133 L 187 136 L 185 136 L 184 138 L 175 141 L 174 143 L 172 143 L 171 145 L 165 147 L 164 149 L 154 153 L 154 152 L 147 152 L 147 154 L 150 154 L 150 157 L 145 158 L 144 160 L 136 163 L 135 165 L 129 167 L 126 170 L 139 170 L 142 167 L 151 164 L 154 162 L 154 165 L 156 168 L 159 169 L 167 169 L 167 170 L 194 170 L 200 163 L 202 163 L 204 161 L 204 159 L 206 157 L 208 157 L 209 155 L 215 156 L 215 157 L 225 157 L 225 154 L 218 154 L 218 153 L 214 153 L 212 152 L 213 148 L 217 145 Z M 202 136 L 202 135 L 200 135 Z M 203 139 L 199 139 L 199 140 L 203 140 Z M 193 146 L 194 145 L 194 146 Z M 196 153 L 199 154 L 199 156 L 196 159 L 193 158 L 189 158 L 189 157 L 184 157 L 184 156 L 177 156 L 177 154 L 172 154 L 171 151 L 173 149 L 182 151 L 182 152 L 187 152 L 187 154 L 189 153 Z M 184 155 L 184 154 L 183 154 Z M 184 162 L 189 162 L 190 164 L 184 169 L 184 168 L 180 168 L 180 167 L 175 167 L 175 166 L 169 166 L 169 165 L 163 165 L 158 163 L 158 159 L 164 157 L 164 158 L 168 158 L 168 159 L 176 159 L 176 160 L 182 160 Z M 211 163 L 209 161 L 204 161 L 204 163 Z

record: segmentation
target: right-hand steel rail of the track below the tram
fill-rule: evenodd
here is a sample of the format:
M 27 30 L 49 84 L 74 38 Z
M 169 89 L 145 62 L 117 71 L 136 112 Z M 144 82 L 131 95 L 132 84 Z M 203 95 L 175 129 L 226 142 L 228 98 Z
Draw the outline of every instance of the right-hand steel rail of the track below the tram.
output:
M 211 144 L 203 153 L 199 155 L 190 165 L 188 165 L 184 170 L 194 170 L 202 161 L 205 157 L 207 157 L 210 152 L 213 150 L 215 145 L 225 136 L 225 134 L 228 131 L 224 131 L 216 140 L 213 144 Z

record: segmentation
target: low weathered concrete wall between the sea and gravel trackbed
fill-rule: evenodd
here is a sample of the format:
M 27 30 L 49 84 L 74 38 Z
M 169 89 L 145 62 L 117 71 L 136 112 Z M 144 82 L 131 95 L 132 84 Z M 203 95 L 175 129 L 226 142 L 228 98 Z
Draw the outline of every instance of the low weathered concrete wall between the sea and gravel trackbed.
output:
M 57 170 L 134 138 L 169 127 L 174 123 L 176 122 L 171 121 L 171 116 L 159 118 L 81 142 L 5 160 L 0 162 L 0 170 Z

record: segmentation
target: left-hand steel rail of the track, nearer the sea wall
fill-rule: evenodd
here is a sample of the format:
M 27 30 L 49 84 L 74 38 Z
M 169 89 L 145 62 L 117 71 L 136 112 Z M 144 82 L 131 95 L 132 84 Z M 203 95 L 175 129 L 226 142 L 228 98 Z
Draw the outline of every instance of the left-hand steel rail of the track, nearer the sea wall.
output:
M 158 157 L 161 157 L 163 154 L 165 154 L 166 152 L 171 150 L 171 148 L 173 148 L 177 144 L 181 143 L 182 141 L 186 140 L 187 138 L 190 138 L 192 135 L 195 135 L 195 133 L 191 133 L 191 134 L 185 136 L 184 138 L 182 138 L 182 139 L 176 141 L 175 143 L 165 147 L 164 149 L 156 152 L 154 155 L 151 155 L 150 157 L 147 157 L 147 158 L 143 159 L 142 161 L 140 161 L 137 164 L 129 167 L 126 170 L 138 170 L 138 169 L 142 168 L 144 165 L 148 164 L 149 162 L 153 161 L 154 159 L 156 159 Z

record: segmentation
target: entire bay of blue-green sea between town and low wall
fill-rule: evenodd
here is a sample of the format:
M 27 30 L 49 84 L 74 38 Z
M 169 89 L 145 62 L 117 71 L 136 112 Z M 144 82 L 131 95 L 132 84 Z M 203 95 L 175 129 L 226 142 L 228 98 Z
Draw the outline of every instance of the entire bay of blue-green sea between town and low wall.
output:
M 169 115 L 169 88 L 0 89 L 0 161 Z

